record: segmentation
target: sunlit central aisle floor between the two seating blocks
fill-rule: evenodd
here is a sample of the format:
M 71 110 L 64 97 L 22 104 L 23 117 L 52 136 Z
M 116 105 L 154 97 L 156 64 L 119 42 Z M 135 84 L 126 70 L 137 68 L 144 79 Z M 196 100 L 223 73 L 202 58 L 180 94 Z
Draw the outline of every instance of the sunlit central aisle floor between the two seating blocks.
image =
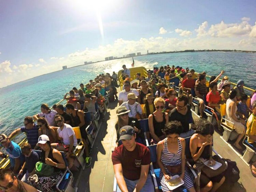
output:
M 78 192 L 113 190 L 114 170 L 111 155 L 116 141 L 115 122 L 117 106 L 118 101 L 109 103 L 105 114 L 105 121 L 100 126 L 95 146 L 91 152 L 91 167 L 85 168 L 82 171 Z

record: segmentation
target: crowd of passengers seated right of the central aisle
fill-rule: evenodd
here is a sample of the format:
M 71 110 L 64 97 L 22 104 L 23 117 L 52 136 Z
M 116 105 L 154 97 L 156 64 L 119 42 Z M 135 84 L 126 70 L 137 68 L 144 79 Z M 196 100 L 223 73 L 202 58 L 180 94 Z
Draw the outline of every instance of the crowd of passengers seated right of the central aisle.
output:
M 145 146 L 157 144 L 157 166 L 160 168 L 162 191 L 170 191 L 166 180 L 179 175 L 188 191 L 216 191 L 225 181 L 225 163 L 212 154 L 214 128 L 223 132 L 221 106 L 224 106 L 226 123 L 236 130 L 237 139 L 233 146 L 242 150 L 241 141 L 248 136 L 248 142 L 256 142 L 256 96 L 255 91 L 249 98 L 244 92 L 244 81 L 239 80 L 234 88 L 225 73 L 206 79 L 206 72 L 196 74 L 194 69 L 182 69 L 161 66 L 147 72 L 147 77 L 136 74 L 130 76 L 129 69 L 123 66 L 123 87 L 119 93 L 118 120 L 116 122 L 116 147 L 112 153 L 117 191 L 154 191 L 152 180 L 148 176 L 150 150 Z M 221 82 L 218 79 L 222 77 Z M 169 82 L 171 86 L 167 86 Z M 176 98 L 176 96 L 178 96 Z M 193 119 L 193 102 L 199 105 L 198 120 Z M 215 121 L 206 121 L 205 108 L 209 108 Z M 223 108 L 223 107 L 222 107 Z M 250 114 L 250 115 L 249 115 Z M 149 132 L 142 134 L 143 128 L 138 122 L 148 119 Z M 246 126 L 246 121 L 247 126 Z M 214 123 L 215 122 L 215 123 Z M 247 128 L 247 130 L 246 130 Z M 209 175 L 201 170 L 200 182 L 196 189 L 193 176 L 185 166 L 185 139 L 190 138 L 189 150 L 192 164 L 201 158 L 212 165 L 222 162 L 222 171 Z M 251 171 L 256 177 L 256 163 Z M 219 169 L 218 169 L 219 170 Z M 197 183 L 198 184 L 198 183 Z

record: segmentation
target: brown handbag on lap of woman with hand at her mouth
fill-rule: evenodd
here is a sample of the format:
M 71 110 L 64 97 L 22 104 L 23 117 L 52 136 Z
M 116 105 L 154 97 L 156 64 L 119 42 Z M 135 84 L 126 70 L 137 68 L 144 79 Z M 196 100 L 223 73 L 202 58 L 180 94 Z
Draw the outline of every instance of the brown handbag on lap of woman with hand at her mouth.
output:
M 223 159 L 221 159 L 219 156 L 215 155 L 212 158 L 215 161 L 221 163 L 222 165 L 219 168 L 217 168 L 216 170 L 213 170 L 210 167 L 208 167 L 207 165 L 204 165 L 201 168 L 201 170 L 209 178 L 217 176 L 217 175 L 223 173 L 226 170 L 226 168 L 227 168 L 227 165 L 226 165 L 225 161 Z

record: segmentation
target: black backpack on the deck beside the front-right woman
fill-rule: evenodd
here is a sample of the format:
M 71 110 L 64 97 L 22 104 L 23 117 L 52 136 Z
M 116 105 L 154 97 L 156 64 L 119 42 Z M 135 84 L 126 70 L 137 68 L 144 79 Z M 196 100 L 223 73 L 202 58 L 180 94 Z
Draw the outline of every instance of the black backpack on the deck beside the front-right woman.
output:
M 230 159 L 223 159 L 228 163 L 228 168 L 225 171 L 225 178 L 227 182 L 237 182 L 240 178 L 239 168 L 237 167 L 237 163 L 235 161 L 231 161 Z

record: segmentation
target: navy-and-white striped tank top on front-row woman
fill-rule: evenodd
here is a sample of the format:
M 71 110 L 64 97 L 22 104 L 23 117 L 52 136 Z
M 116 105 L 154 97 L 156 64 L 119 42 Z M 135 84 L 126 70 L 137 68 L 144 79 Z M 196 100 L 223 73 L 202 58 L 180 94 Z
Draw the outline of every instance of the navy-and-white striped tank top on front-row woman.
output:
M 176 145 L 176 144 L 175 144 Z M 181 153 L 182 153 L 182 145 L 180 138 L 178 138 L 178 150 L 176 153 L 170 153 L 167 147 L 167 138 L 165 138 L 165 144 L 161 153 L 161 161 L 163 165 L 179 165 L 181 164 Z M 166 171 L 168 169 L 165 167 Z

